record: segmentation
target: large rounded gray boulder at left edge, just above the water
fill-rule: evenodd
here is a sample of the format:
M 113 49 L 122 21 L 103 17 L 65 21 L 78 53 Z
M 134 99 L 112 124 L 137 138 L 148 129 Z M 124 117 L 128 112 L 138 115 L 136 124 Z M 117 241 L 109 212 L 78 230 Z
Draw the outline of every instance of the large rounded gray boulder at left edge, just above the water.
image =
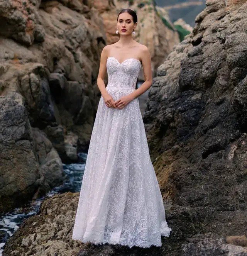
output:
M 23 105 L 0 96 L 0 124 L 2 213 L 44 195 L 61 183 L 63 166 L 46 134 L 30 126 Z

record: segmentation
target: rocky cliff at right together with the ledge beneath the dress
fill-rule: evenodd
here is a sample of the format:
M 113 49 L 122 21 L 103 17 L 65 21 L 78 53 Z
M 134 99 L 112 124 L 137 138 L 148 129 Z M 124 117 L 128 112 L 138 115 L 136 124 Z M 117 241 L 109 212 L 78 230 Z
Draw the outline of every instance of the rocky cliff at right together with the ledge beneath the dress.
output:
M 79 193 L 46 200 L 3 255 L 247 255 L 247 3 L 208 0 L 159 67 L 144 116 L 172 228 L 161 248 L 72 241 Z

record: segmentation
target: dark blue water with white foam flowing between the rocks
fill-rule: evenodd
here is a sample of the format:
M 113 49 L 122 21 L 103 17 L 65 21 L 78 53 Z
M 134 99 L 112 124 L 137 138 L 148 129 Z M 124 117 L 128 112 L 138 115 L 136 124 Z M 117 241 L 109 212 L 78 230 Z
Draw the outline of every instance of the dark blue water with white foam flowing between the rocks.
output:
M 80 192 L 87 154 L 79 153 L 78 156 L 79 163 L 63 164 L 65 179 L 62 185 L 54 187 L 44 197 L 38 198 L 20 208 L 14 209 L 12 212 L 0 216 L 0 256 L 2 256 L 3 246 L 8 238 L 17 231 L 25 219 L 39 212 L 44 199 L 64 192 Z

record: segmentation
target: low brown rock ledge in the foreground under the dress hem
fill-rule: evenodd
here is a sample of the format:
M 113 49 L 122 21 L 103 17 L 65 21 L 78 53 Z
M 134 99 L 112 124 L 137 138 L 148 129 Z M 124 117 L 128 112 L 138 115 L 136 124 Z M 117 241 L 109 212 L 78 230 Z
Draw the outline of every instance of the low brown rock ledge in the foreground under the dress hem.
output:
M 129 248 L 118 244 L 95 245 L 91 242 L 82 243 L 73 240 L 73 224 L 79 195 L 80 193 L 68 192 L 54 195 L 43 201 L 39 214 L 25 220 L 15 234 L 8 239 L 3 256 L 25 256 L 31 253 L 40 256 L 56 253 L 59 256 L 138 256 L 143 253 L 151 256 L 163 255 L 164 253 L 169 256 L 217 256 L 219 251 L 232 253 L 222 255 L 244 256 L 246 253 L 247 248 L 233 245 L 233 238 L 225 242 L 224 237 L 216 234 L 196 234 L 201 220 L 195 219 L 195 209 L 175 204 L 169 205 L 168 202 L 166 202 L 166 219 L 169 226 L 172 227 L 172 232 L 169 238 L 162 237 L 161 247 L 139 248 L 134 246 Z M 205 215 L 213 214 L 212 210 L 207 209 Z

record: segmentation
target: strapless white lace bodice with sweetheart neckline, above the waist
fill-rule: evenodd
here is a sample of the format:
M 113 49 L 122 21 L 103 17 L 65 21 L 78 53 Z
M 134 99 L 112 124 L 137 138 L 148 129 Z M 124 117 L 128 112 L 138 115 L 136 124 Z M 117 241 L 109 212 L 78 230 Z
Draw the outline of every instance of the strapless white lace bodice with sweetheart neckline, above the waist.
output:
M 138 59 L 129 58 L 119 63 L 115 57 L 107 58 L 107 87 L 135 90 L 142 64 Z

